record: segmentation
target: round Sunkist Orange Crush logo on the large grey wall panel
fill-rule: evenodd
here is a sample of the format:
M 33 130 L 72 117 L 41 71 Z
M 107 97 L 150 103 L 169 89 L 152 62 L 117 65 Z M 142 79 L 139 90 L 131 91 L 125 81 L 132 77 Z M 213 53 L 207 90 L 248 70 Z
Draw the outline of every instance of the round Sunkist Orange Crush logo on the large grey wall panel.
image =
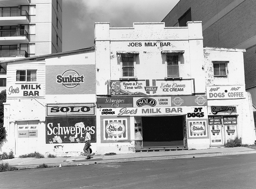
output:
M 67 70 L 62 75 L 56 76 L 56 82 L 67 88 L 74 88 L 77 85 L 84 83 L 84 76 L 79 75 L 74 70 Z

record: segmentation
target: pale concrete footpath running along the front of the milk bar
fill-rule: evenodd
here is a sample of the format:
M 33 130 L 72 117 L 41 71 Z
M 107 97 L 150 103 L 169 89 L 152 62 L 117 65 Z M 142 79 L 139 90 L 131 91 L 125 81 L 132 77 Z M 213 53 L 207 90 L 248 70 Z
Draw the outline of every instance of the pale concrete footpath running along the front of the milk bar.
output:
M 210 148 L 205 150 L 175 150 L 175 151 L 159 151 L 159 152 L 136 152 L 129 154 L 116 155 L 95 155 L 92 159 L 85 159 L 86 156 L 74 157 L 56 157 L 56 158 L 14 158 L 4 159 L 0 161 L 8 162 L 10 165 L 19 169 L 36 168 L 41 164 L 46 164 L 48 167 L 62 166 L 77 166 L 89 164 L 106 164 L 129 161 L 144 161 L 144 160 L 159 160 L 159 159 L 180 159 L 180 158 L 196 158 L 196 157 L 213 157 L 239 154 L 255 154 L 256 150 L 246 147 L 235 148 Z

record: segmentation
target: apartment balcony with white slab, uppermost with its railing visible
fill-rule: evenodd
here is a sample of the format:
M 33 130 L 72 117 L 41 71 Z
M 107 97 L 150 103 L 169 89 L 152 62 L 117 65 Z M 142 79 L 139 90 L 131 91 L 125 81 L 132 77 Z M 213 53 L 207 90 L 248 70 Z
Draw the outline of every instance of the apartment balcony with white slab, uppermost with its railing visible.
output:
M 0 11 L 0 25 L 29 24 L 26 10 Z

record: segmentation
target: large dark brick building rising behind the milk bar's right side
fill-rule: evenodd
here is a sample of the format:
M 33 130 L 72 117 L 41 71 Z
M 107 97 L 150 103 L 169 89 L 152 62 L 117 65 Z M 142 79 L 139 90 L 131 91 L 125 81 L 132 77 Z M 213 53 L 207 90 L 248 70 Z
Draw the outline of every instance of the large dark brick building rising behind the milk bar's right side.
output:
M 204 46 L 242 48 L 246 91 L 251 92 L 256 110 L 256 1 L 180 0 L 162 22 L 166 26 L 187 26 L 202 21 Z

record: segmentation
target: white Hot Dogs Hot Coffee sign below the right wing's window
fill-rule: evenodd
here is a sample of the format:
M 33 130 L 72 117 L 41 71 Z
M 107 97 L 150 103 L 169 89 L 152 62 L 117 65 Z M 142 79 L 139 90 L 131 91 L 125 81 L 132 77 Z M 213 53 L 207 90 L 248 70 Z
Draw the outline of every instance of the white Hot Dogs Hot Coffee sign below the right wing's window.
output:
M 206 92 L 208 100 L 245 98 L 244 85 L 206 86 Z

